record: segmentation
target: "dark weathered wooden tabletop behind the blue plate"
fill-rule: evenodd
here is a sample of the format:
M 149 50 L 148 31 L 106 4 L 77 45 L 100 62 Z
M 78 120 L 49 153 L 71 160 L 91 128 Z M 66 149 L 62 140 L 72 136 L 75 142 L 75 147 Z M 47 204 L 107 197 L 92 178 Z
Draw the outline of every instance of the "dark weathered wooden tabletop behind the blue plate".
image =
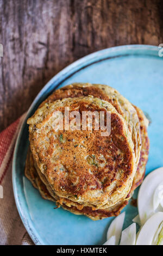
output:
M 163 1 L 0 0 L 0 131 L 57 72 L 86 54 L 163 43 Z

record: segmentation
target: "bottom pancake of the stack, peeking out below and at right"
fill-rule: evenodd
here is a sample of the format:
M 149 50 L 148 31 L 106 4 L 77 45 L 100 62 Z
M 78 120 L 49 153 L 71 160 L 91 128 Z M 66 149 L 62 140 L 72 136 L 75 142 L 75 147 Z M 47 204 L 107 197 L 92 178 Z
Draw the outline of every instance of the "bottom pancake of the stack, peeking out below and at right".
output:
M 147 135 L 148 119 L 145 117 L 145 115 L 143 114 L 143 112 L 141 111 L 140 108 L 135 106 L 135 109 L 139 116 L 140 125 L 141 125 L 141 138 L 142 138 L 142 153 L 141 153 L 141 155 L 142 155 L 142 157 L 140 159 L 139 168 L 137 168 L 137 172 L 134 176 L 135 182 L 133 182 L 133 186 L 131 187 L 130 193 L 128 194 L 128 198 L 131 196 L 131 194 L 133 194 L 134 189 L 137 186 L 139 186 L 143 180 L 143 176 L 145 175 L 145 167 L 146 167 L 146 163 L 148 160 L 148 152 L 149 152 L 149 139 L 148 139 L 148 135 Z M 29 154 L 30 154 L 30 156 L 29 156 Z M 26 168 L 25 168 L 25 170 L 28 169 L 28 172 L 29 172 L 29 167 L 31 168 L 30 175 L 26 174 L 26 176 L 30 181 L 32 181 L 32 183 L 33 183 L 34 179 L 36 179 L 37 189 L 39 189 L 41 196 L 44 199 L 48 199 L 48 200 L 57 202 L 58 207 L 61 205 L 62 208 L 64 208 L 65 210 L 71 211 L 74 214 L 84 214 L 87 217 L 90 217 L 92 220 L 100 220 L 102 218 L 106 218 L 106 217 L 110 217 L 110 216 L 117 216 L 118 214 L 120 214 L 120 211 L 124 208 L 124 206 L 126 206 L 128 203 L 128 200 L 124 200 L 110 208 L 103 209 L 103 210 L 94 210 L 93 211 L 92 208 L 87 207 L 87 206 L 82 209 L 81 208 L 79 209 L 79 206 L 77 208 L 77 205 L 72 204 L 72 202 L 71 202 L 71 204 L 70 204 L 70 202 L 68 202 L 68 203 L 66 201 L 63 202 L 62 198 L 61 199 L 56 198 L 54 196 L 54 194 L 51 196 L 51 194 L 49 193 L 49 191 L 46 188 L 46 186 L 48 186 L 46 179 L 44 180 L 44 182 L 46 182 L 46 186 L 45 186 L 45 184 L 43 184 L 41 179 L 39 179 L 39 185 L 38 185 L 38 178 L 35 178 L 36 177 L 36 169 L 34 166 L 34 160 L 33 160 L 33 156 L 32 156 L 32 153 L 30 152 L 30 150 L 27 154 Z M 32 180 L 31 180 L 31 176 L 33 177 Z M 41 176 L 41 178 L 42 178 L 42 176 Z M 33 185 L 35 186 L 35 182 L 33 183 Z M 52 192 L 52 190 L 51 190 L 51 192 Z M 55 199 L 53 198 L 53 196 Z

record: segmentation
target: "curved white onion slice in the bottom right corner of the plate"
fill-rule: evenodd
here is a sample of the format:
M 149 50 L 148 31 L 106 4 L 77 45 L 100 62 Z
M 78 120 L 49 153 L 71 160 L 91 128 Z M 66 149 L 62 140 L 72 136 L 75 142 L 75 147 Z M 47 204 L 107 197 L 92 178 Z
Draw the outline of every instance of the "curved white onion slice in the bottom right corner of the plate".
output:
M 150 217 L 140 230 L 136 245 L 152 245 L 156 231 L 163 221 L 163 212 L 157 212 Z

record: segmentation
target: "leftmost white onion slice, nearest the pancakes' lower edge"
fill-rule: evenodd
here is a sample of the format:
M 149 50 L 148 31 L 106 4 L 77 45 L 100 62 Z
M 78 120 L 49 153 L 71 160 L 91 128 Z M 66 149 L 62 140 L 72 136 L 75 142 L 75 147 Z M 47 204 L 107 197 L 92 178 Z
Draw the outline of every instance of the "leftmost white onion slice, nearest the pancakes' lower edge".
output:
M 123 222 L 124 222 L 125 212 L 118 215 L 110 224 L 108 232 L 107 232 L 107 240 L 110 239 L 111 236 L 115 236 L 116 242 L 115 244 L 118 245 L 121 237 Z

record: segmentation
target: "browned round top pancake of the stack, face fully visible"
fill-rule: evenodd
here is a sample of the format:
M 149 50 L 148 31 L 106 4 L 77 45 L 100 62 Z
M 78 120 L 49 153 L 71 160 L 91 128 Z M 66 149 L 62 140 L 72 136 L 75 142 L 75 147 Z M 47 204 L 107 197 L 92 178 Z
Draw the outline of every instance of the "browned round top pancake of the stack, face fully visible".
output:
M 110 136 L 101 136 L 100 129 L 54 130 L 53 113 L 64 114 L 65 107 L 80 113 L 108 111 Z M 28 124 L 37 167 L 59 198 L 105 209 L 127 197 L 135 175 L 134 144 L 126 121 L 109 102 L 92 96 L 45 102 Z

